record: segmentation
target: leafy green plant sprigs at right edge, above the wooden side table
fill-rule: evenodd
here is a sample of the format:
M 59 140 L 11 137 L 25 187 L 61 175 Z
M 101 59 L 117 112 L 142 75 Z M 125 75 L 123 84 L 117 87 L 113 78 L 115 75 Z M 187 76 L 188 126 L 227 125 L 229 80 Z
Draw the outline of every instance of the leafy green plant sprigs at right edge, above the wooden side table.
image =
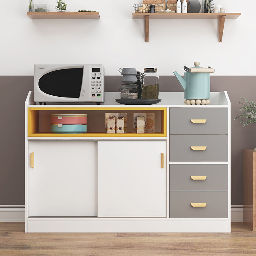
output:
M 234 120 L 240 118 L 240 117 L 245 117 L 246 120 L 240 121 L 242 126 L 248 125 L 248 124 L 253 124 L 256 122 L 256 104 L 253 103 L 252 101 L 248 101 L 245 98 L 240 97 L 245 101 L 245 103 L 240 102 L 240 104 L 243 104 L 241 108 L 238 108 L 238 111 L 243 111 L 239 116 L 236 116 Z

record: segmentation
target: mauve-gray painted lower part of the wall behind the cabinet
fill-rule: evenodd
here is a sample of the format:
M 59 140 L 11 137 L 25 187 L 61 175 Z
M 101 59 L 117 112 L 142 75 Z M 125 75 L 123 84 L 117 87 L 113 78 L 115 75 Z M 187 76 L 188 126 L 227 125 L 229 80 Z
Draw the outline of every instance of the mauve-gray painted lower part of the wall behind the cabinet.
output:
M 121 76 L 105 76 L 105 91 L 118 92 Z M 25 204 L 25 110 L 33 76 L 0 76 L 0 205 Z M 181 92 L 174 76 L 160 76 L 161 92 Z M 243 204 L 243 149 L 256 148 L 256 124 L 241 127 L 240 96 L 256 102 L 256 76 L 211 76 L 211 91 L 227 91 L 231 101 L 231 204 Z

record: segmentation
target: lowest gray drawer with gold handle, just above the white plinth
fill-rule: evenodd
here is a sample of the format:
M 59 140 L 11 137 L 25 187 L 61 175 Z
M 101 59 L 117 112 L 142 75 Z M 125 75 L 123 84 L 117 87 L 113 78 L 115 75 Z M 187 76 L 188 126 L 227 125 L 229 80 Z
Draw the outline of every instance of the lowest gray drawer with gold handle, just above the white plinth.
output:
M 206 206 L 192 207 L 191 203 L 206 203 Z M 228 218 L 228 192 L 172 191 L 170 218 Z

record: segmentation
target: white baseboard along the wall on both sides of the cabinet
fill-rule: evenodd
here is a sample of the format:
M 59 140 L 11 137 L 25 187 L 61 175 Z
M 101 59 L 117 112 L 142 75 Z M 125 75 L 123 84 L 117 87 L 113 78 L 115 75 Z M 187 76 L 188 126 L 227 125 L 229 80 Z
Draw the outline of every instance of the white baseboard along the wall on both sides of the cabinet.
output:
M 231 222 L 244 221 L 243 205 L 231 205 Z M 0 205 L 0 222 L 24 222 L 25 205 Z

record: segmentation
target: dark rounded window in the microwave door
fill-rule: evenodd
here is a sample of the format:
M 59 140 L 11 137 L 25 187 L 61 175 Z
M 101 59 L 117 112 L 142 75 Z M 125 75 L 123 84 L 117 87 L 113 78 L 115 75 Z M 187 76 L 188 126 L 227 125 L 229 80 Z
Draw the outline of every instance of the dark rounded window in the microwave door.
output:
M 52 96 L 79 98 L 82 79 L 83 68 L 65 68 L 45 74 L 39 79 L 38 86 Z

